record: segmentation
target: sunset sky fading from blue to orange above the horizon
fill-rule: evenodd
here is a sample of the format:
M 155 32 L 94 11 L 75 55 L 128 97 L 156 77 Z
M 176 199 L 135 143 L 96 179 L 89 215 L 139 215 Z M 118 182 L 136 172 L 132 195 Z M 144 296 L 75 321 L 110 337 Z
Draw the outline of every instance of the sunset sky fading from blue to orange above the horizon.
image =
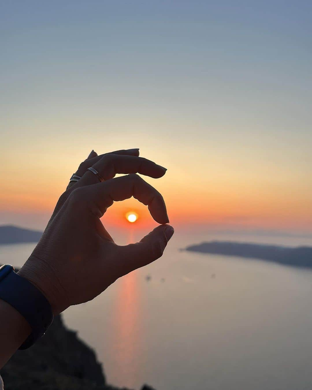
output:
M 312 233 L 311 2 L 10 1 L 0 15 L 0 224 L 43 229 L 92 149 L 139 147 L 168 168 L 146 180 L 175 228 Z M 133 199 L 105 223 L 131 209 L 153 224 Z

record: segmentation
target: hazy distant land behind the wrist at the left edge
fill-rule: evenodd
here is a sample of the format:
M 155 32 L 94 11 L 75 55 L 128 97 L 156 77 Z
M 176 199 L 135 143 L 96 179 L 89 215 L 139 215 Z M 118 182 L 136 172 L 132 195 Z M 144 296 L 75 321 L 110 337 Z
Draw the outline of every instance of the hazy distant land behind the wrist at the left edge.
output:
M 13 225 L 0 226 L 0 245 L 17 243 L 36 243 L 42 236 L 37 230 L 23 229 Z

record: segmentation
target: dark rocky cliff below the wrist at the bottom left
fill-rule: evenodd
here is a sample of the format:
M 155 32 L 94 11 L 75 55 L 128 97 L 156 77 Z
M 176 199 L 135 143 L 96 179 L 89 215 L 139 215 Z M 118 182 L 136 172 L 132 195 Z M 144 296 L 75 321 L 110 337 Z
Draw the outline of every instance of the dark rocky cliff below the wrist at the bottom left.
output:
M 34 346 L 17 351 L 0 374 L 5 390 L 118 390 L 106 384 L 94 351 L 66 329 L 61 316 Z

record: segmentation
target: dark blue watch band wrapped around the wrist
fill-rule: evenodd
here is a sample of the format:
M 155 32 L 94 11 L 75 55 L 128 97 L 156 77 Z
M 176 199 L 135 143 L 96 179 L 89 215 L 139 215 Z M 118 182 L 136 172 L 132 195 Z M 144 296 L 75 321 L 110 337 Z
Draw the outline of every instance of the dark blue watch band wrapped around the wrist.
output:
M 19 349 L 32 346 L 53 321 L 46 297 L 27 279 L 15 273 L 9 264 L 0 267 L 0 298 L 20 312 L 32 328 L 32 333 Z

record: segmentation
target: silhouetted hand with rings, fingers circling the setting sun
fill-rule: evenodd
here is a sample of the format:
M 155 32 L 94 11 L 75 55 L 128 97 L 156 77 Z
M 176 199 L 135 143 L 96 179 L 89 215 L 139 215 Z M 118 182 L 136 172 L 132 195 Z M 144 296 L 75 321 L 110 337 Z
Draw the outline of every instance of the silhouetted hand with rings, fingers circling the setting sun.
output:
M 82 178 L 61 195 L 42 238 L 20 269 L 20 276 L 46 296 L 54 314 L 92 300 L 117 278 L 163 254 L 174 233 L 170 225 L 156 227 L 139 243 L 119 246 L 100 221 L 114 201 L 133 196 L 148 205 L 156 222 L 169 222 L 161 194 L 135 174 L 159 178 L 166 169 L 138 154 L 138 149 L 90 154 L 76 172 Z M 91 166 L 104 182 L 87 170 Z M 113 178 L 115 174 L 129 175 Z

